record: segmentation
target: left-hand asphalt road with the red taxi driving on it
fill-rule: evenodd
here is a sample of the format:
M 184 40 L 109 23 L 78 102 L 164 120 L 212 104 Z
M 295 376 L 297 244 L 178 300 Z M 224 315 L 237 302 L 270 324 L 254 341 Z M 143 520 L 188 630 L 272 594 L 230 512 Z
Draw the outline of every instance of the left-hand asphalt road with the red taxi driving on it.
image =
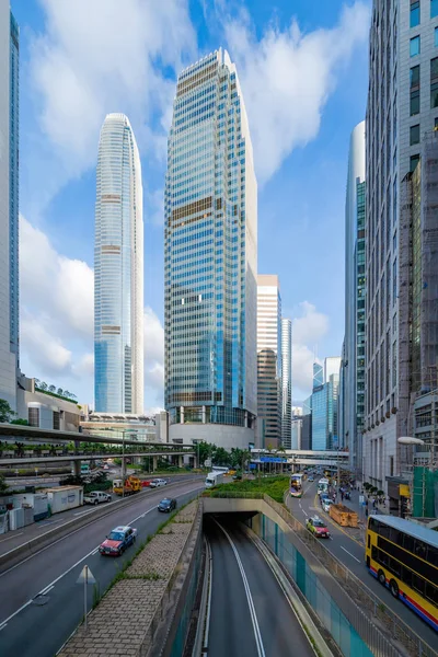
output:
M 54 657 L 83 618 L 83 585 L 76 584 L 83 566 L 90 567 L 104 591 L 136 551 L 131 546 L 114 558 L 99 554 L 99 544 L 113 527 L 132 525 L 138 530 L 138 545 L 166 518 L 157 510 L 160 499 L 169 495 L 181 506 L 203 488 L 203 480 L 182 482 L 141 496 L 128 507 L 115 506 L 111 516 L 54 542 L 0 575 L 0 655 Z M 93 587 L 88 589 L 91 609 Z

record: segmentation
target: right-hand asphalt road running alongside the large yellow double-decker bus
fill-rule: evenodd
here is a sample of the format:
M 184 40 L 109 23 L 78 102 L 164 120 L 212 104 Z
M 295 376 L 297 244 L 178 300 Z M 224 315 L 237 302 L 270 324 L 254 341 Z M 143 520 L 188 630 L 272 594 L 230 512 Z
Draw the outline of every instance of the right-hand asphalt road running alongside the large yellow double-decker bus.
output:
M 316 477 L 318 479 L 318 477 Z M 318 515 L 326 520 L 332 540 L 321 539 L 324 545 L 334 554 L 351 573 L 356 575 L 383 604 L 390 608 L 400 619 L 411 627 L 418 636 L 426 641 L 435 650 L 438 648 L 438 635 L 419 616 L 411 611 L 403 602 L 395 600 L 390 590 L 384 588 L 369 574 L 365 566 L 365 532 L 341 528 L 334 522 L 328 514 L 322 510 L 316 496 L 318 482 L 306 483 L 301 499 L 289 499 L 288 506 L 295 518 L 306 525 L 309 516 Z M 356 493 L 354 493 L 356 494 Z M 345 503 L 348 506 L 348 502 Z M 351 533 L 355 535 L 353 537 Z M 361 534 L 361 535 L 360 535 Z M 360 537 L 360 538 L 359 538 Z

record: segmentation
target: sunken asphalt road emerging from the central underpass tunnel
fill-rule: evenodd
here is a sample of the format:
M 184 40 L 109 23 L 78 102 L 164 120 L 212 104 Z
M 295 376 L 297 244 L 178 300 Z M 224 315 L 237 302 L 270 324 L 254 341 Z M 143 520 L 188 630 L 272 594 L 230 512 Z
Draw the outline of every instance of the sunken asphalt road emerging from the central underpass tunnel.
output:
M 314 657 L 257 548 L 237 522 L 223 517 L 219 522 L 205 518 L 204 525 L 212 557 L 208 656 Z

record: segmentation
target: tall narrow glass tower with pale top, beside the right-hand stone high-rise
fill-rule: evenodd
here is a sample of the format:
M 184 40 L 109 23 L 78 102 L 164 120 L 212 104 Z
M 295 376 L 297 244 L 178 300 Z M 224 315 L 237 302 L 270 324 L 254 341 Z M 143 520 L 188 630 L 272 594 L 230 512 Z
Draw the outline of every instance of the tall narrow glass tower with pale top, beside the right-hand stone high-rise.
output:
M 339 380 L 339 446 L 361 481 L 365 411 L 365 122 L 351 132 L 345 203 L 345 334 Z

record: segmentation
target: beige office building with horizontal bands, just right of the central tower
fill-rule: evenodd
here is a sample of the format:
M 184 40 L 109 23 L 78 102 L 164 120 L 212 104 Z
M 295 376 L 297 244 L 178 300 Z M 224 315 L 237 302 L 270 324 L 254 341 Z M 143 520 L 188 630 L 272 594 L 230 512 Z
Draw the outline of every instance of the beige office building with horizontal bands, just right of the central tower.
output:
M 257 276 L 257 447 L 281 442 L 281 298 L 278 276 Z M 260 426 L 264 420 L 264 442 Z

